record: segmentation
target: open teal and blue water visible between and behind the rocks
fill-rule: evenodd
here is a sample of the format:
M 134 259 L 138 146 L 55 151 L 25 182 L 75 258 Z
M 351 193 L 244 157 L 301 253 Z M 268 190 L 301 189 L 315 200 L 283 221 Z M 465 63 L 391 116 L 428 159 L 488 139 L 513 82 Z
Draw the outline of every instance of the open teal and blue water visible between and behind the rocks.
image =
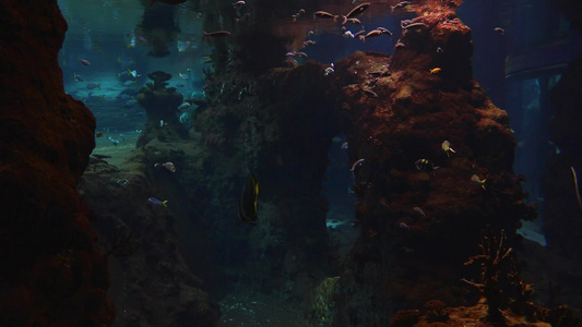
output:
M 559 150 L 548 142 L 547 121 L 553 108 L 545 95 L 559 80 L 573 52 L 556 58 L 546 56 L 546 61 L 535 65 L 530 64 L 527 55 L 558 40 L 574 43 L 578 36 L 572 35 L 569 24 L 548 4 L 549 0 L 530 1 L 525 10 L 520 7 L 523 1 L 498 2 L 499 5 L 491 5 L 490 0 L 467 0 L 458 14 L 473 31 L 475 78 L 491 100 L 510 113 L 518 142 L 514 171 L 527 177 L 523 183 L 530 193 L 527 202 L 536 203 L 543 213 L 542 173 L 549 156 Z M 149 81 L 150 72 L 170 73 L 173 78 L 168 86 L 175 87 L 185 98 L 204 98 L 202 71 L 212 69 L 205 56 L 213 48 L 202 36 L 206 14 L 203 8 L 188 1 L 180 5 L 156 3 L 154 9 L 164 14 L 151 21 L 143 14 L 152 10 L 147 8 L 149 1 L 81 3 L 61 0 L 59 5 L 69 24 L 59 52 L 64 89 L 83 101 L 96 117 L 97 131 L 105 136 L 97 142 L 98 147 L 115 146 L 111 140 L 134 142 L 139 136 L 146 117 L 135 96 Z M 310 37 L 316 45 L 301 51 L 309 59 L 324 63 L 333 63 L 356 50 L 392 53 L 400 37 L 401 21 L 414 16 L 406 12 L 399 15 L 370 12 L 363 17 L 369 29 L 383 26 L 394 35 L 361 43 L 342 37 L 338 31 L 322 28 Z M 502 27 L 506 34 L 496 32 L 496 27 Z M 357 27 L 353 32 L 356 33 Z M 518 58 L 514 59 L 516 63 L 508 58 Z M 520 61 L 521 58 L 524 59 Z M 305 59 L 298 61 L 302 63 Z M 186 112 L 192 113 L 192 110 Z M 332 164 L 326 171 L 329 180 L 323 183 L 323 194 L 330 201 L 331 241 L 346 255 L 356 237 L 351 229 L 355 196 L 349 190 L 353 180 L 347 155 L 341 148 L 345 136 L 336 137 L 329 153 Z M 543 221 L 542 215 L 536 222 L 526 225 L 526 229 L 541 232 Z M 539 242 L 543 235 L 535 238 Z M 231 301 L 229 305 L 236 306 L 236 300 L 226 299 Z

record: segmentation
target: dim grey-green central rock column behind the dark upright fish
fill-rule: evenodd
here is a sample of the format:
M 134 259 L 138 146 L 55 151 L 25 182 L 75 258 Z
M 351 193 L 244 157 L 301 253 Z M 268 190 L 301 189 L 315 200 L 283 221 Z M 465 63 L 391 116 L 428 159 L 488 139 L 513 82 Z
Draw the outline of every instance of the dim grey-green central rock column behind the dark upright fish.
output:
M 194 122 L 200 135 L 194 142 L 205 153 L 203 175 L 189 183 L 206 187 L 213 198 L 203 216 L 212 220 L 210 239 L 233 281 L 305 295 L 312 276 L 332 265 L 328 202 L 320 191 L 340 125 L 332 102 L 322 96 L 323 71 L 322 64 L 308 62 L 273 69 L 256 82 L 236 74 L 207 81 L 212 105 Z M 257 226 L 237 217 L 248 173 L 260 185 Z

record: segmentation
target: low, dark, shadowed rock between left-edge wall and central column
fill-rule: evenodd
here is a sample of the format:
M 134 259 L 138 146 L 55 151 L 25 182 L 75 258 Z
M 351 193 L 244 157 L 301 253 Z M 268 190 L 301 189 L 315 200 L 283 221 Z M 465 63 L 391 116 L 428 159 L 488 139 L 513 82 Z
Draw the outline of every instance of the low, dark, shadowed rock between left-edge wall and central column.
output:
M 157 150 L 167 155 L 159 147 Z M 112 326 L 216 326 L 221 311 L 204 284 L 212 268 L 185 254 L 204 247 L 188 249 L 192 242 L 177 232 L 185 229 L 185 218 L 189 219 L 182 217 L 182 199 L 169 196 L 177 183 L 168 171 L 146 177 L 140 161 L 149 155 L 142 155 L 136 150 L 123 170 L 92 155 L 79 184 L 96 213 L 94 228 L 109 263 L 108 296 L 118 312 Z M 147 199 L 154 196 L 167 199 L 167 207 Z M 197 229 L 188 226 L 188 237 L 199 238 Z M 207 270 L 199 275 L 204 280 L 192 267 Z

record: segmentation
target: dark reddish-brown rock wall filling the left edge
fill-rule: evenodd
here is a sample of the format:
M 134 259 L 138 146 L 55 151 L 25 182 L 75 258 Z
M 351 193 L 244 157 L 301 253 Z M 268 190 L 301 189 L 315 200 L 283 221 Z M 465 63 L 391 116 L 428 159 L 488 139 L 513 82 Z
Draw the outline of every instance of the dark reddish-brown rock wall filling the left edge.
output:
M 75 185 L 95 119 L 64 94 L 57 1 L 2 1 L 0 325 L 107 326 L 106 258 Z

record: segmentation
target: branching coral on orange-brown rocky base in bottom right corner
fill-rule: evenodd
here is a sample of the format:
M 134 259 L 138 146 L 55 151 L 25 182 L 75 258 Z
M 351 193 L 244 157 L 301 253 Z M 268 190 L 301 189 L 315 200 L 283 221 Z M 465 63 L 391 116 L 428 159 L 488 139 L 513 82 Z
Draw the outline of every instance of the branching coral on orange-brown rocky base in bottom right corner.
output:
M 533 286 L 521 278 L 513 249 L 506 245 L 507 238 L 501 230 L 499 237 L 487 226 L 479 244 L 482 254 L 470 257 L 465 265 L 479 263 L 480 282 L 463 281 L 477 288 L 483 295 L 472 307 L 447 307 L 439 300 L 425 304 L 425 312 L 403 310 L 392 318 L 392 326 L 580 326 L 567 306 L 548 310 L 530 301 Z M 436 325 L 438 322 L 438 325 Z

